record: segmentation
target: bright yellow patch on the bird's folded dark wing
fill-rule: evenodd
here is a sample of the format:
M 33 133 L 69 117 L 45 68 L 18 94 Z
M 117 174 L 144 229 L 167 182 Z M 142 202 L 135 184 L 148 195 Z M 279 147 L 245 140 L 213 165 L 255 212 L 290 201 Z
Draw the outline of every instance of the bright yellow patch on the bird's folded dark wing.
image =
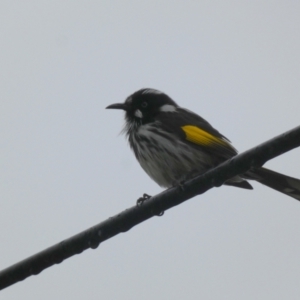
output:
M 197 126 L 186 125 L 182 126 L 181 129 L 184 131 L 186 139 L 192 143 L 202 146 L 222 145 L 231 148 L 231 145 L 222 138 L 215 137 Z

